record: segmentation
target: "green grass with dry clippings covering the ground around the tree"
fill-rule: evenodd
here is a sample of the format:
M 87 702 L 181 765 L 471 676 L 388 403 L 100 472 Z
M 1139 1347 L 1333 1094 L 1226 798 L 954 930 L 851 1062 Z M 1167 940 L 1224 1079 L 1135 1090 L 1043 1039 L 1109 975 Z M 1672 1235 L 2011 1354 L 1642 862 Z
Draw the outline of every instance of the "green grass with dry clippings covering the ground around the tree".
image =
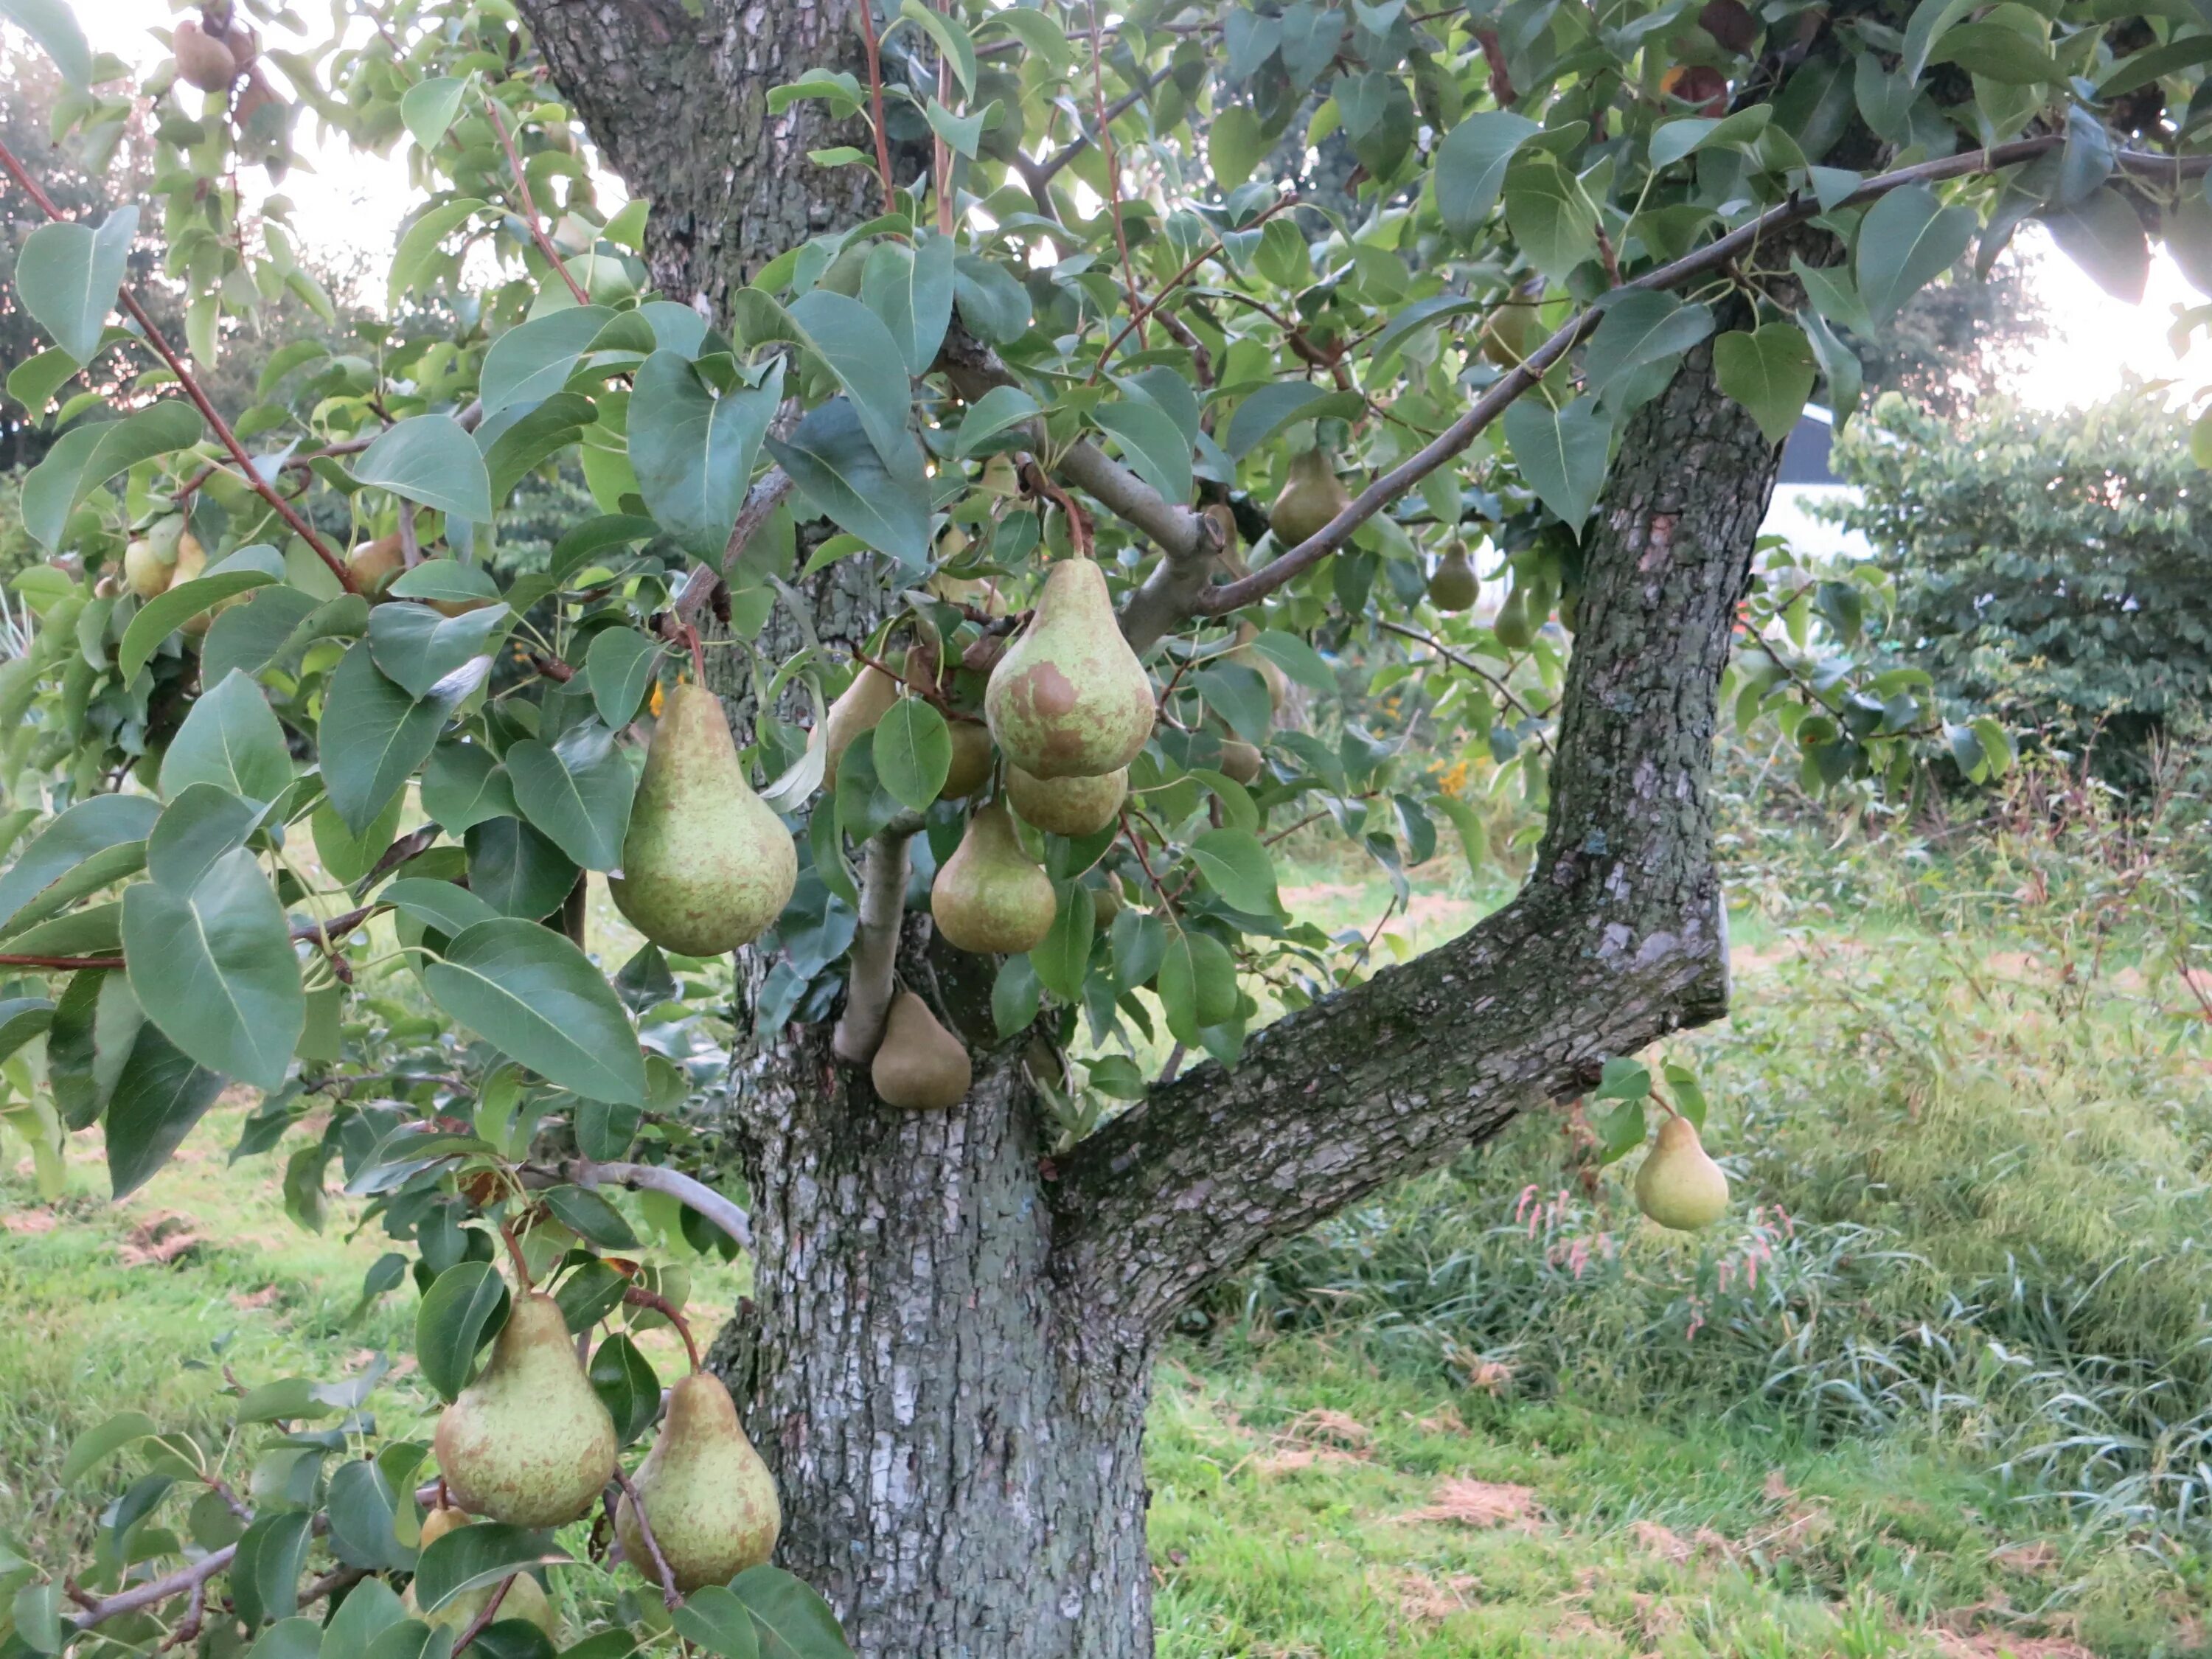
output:
M 1199 1310 L 1148 1440 L 1161 1652 L 2212 1655 L 2212 1060 L 2172 907 L 2090 854 L 1739 854 L 1736 1015 L 1670 1046 L 1741 1194 L 1710 1237 L 1542 1113 Z M 1498 898 L 1420 876 L 1405 949 Z M 1332 929 L 1389 891 L 1285 887 Z M 356 1316 L 380 1241 L 226 1166 L 241 1115 L 124 1206 L 88 1146 L 53 1208 L 0 1172 L 0 1531 L 38 1559 L 91 1542 L 100 1480 L 55 1471 L 115 1409 L 221 1433 L 226 1367 L 409 1349 L 407 1292 Z M 701 1263 L 708 1329 L 741 1283 Z M 405 1360 L 376 1409 L 427 1420 Z M 557 1579 L 571 1630 L 615 1608 Z

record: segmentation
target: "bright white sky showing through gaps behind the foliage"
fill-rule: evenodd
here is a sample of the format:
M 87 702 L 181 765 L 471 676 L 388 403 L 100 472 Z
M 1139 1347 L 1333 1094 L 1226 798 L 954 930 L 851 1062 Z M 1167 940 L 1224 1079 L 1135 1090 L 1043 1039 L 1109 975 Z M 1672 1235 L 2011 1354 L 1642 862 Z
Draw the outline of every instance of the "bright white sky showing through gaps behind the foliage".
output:
M 159 42 L 146 31 L 168 27 L 168 0 L 71 4 L 95 49 L 113 51 L 126 62 L 161 55 Z M 305 241 L 332 250 L 358 248 L 369 257 L 369 270 L 380 272 L 407 208 L 407 144 L 398 144 L 383 161 L 361 157 L 343 142 L 319 146 L 312 119 L 301 124 L 299 144 L 303 166 L 294 168 L 283 188 L 294 201 L 294 223 Z M 2199 345 L 2183 363 L 2166 341 L 2174 307 L 2201 303 L 2170 259 L 2159 254 L 2141 305 L 2121 305 L 2051 248 L 2039 228 L 2022 230 L 2020 243 L 2031 254 L 2031 281 L 2053 321 L 2053 338 L 2037 349 L 2033 367 L 2015 387 L 2024 400 L 2048 409 L 2095 403 L 2130 372 L 2146 378 L 2212 376 L 2212 349 Z M 378 283 L 372 281 L 369 292 L 378 292 Z

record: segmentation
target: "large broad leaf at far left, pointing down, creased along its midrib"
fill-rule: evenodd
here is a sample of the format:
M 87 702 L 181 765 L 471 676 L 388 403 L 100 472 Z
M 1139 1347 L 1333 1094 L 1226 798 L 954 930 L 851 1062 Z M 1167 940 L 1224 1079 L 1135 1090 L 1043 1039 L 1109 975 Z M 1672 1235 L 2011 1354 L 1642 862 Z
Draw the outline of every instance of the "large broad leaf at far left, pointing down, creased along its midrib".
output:
M 217 858 L 190 894 L 124 889 L 124 960 L 139 1006 L 208 1071 L 276 1088 L 307 1022 L 292 929 L 243 847 Z

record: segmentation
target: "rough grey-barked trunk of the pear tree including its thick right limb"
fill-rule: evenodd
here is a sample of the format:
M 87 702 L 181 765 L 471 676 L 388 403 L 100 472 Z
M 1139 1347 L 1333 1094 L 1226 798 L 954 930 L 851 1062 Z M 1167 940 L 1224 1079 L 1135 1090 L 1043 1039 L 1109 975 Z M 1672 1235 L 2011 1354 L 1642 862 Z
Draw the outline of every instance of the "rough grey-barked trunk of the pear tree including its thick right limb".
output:
M 849 66 L 807 0 L 524 0 L 562 88 L 655 201 L 666 292 L 721 299 L 790 241 L 876 210 L 821 104 L 765 91 Z M 1161 1334 L 1208 1283 L 1378 1186 L 1573 1095 L 1615 1053 L 1717 1018 L 1728 969 L 1708 774 L 1719 675 L 1776 449 L 1710 352 L 1628 427 L 1588 531 L 1553 818 L 1528 889 L 1464 938 L 1261 1033 L 1055 1152 L 991 1031 L 991 964 L 905 922 L 900 969 L 975 1053 L 949 1113 L 876 1102 L 830 1022 L 741 1053 L 730 1133 L 754 1301 L 714 1365 L 776 1473 L 776 1559 L 863 1659 L 1144 1659 L 1144 1409 Z M 865 560 L 810 584 L 856 641 L 887 604 Z M 779 613 L 761 650 L 799 646 Z M 719 653 L 728 661 L 734 653 Z M 717 670 L 726 695 L 743 679 Z M 737 712 L 750 714 L 739 701 Z M 739 964 L 752 1031 L 763 964 Z

